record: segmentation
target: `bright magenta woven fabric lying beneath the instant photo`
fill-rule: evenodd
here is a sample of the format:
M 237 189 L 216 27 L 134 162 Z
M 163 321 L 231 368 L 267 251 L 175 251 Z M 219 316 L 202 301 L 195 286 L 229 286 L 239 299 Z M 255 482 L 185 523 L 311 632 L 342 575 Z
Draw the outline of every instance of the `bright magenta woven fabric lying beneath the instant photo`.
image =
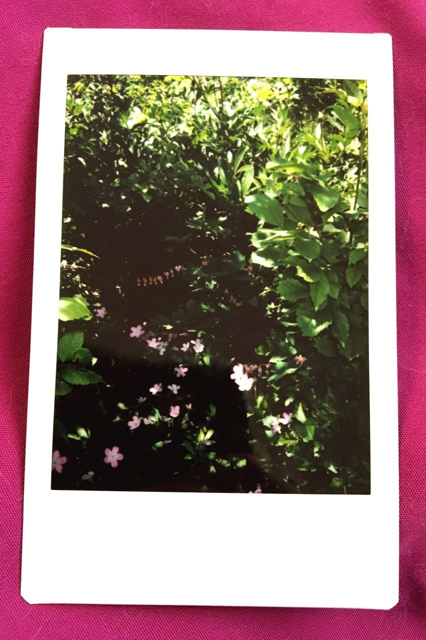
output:
M 425 0 L 7 0 L 0 39 L 0 638 L 424 640 L 426 637 Z M 400 603 L 391 611 L 28 605 L 19 595 L 36 134 L 46 27 L 384 31 L 397 159 Z M 256 55 L 255 46 L 251 54 Z M 173 55 L 173 52 L 171 52 Z M 338 55 L 338 52 L 336 52 Z M 389 224 L 393 224 L 391 214 Z M 384 274 L 386 277 L 386 274 Z M 383 321 L 386 322 L 386 310 Z M 40 416 L 40 428 L 43 417 Z M 52 527 L 57 527 L 52 513 Z M 58 535 L 60 530 L 58 528 Z M 106 562 L 111 559 L 106 558 Z M 46 566 L 52 580 L 61 559 Z M 258 589 L 267 589 L 259 584 Z

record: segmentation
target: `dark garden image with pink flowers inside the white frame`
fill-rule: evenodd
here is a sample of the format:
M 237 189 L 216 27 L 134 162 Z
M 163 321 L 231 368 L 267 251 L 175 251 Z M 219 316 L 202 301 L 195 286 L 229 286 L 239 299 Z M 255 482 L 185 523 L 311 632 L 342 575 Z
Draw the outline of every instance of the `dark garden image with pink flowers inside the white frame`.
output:
M 370 493 L 367 83 L 68 76 L 64 114 L 52 489 Z

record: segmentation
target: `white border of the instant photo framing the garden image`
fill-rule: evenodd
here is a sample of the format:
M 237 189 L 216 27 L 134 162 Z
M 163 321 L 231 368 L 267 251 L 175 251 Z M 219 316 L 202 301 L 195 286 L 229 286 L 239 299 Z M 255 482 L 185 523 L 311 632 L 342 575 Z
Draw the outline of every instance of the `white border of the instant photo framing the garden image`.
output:
M 51 490 L 68 74 L 367 80 L 370 495 Z M 389 35 L 45 31 L 22 550 L 28 602 L 397 604 L 394 193 Z

